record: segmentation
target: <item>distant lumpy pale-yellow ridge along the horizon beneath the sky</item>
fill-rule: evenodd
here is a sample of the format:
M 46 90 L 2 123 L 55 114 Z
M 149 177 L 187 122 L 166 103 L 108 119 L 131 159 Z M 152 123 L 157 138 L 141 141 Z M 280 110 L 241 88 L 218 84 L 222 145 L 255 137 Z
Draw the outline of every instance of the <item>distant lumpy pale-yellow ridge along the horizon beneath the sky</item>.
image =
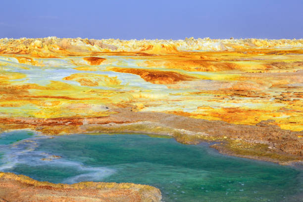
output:
M 250 49 L 302 48 L 303 39 L 194 39 L 119 40 L 47 37 L 39 39 L 0 39 L 1 54 L 28 54 L 35 57 L 89 56 L 101 52 L 137 52 L 165 55 L 178 51 L 228 51 Z

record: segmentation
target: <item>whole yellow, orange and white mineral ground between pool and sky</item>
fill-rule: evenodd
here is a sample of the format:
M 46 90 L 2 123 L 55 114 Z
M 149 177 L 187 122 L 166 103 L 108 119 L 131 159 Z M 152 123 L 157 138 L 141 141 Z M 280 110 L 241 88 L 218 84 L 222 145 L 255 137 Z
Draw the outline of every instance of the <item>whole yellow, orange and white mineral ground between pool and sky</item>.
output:
M 0 39 L 0 132 L 152 133 L 288 162 L 302 117 L 302 39 Z

